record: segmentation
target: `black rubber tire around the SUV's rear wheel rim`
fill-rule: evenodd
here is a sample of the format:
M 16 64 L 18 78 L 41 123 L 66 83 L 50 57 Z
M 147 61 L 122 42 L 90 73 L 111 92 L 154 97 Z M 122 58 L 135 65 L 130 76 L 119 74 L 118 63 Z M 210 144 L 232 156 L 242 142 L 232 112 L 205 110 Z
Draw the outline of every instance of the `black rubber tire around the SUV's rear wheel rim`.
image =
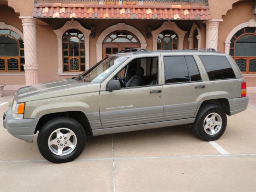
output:
M 213 135 L 208 134 L 204 130 L 205 119 L 211 113 L 218 114 L 222 120 L 222 125 L 221 125 L 220 130 L 218 132 L 216 132 L 216 134 L 213 134 Z M 220 138 L 224 134 L 224 132 L 226 130 L 226 126 L 227 126 L 227 116 L 226 116 L 226 113 L 224 112 L 224 110 L 218 105 L 206 104 L 206 105 L 203 105 L 200 107 L 198 114 L 196 115 L 196 120 L 192 124 L 192 131 L 201 140 L 214 141 L 214 140 L 217 140 L 218 138 Z

